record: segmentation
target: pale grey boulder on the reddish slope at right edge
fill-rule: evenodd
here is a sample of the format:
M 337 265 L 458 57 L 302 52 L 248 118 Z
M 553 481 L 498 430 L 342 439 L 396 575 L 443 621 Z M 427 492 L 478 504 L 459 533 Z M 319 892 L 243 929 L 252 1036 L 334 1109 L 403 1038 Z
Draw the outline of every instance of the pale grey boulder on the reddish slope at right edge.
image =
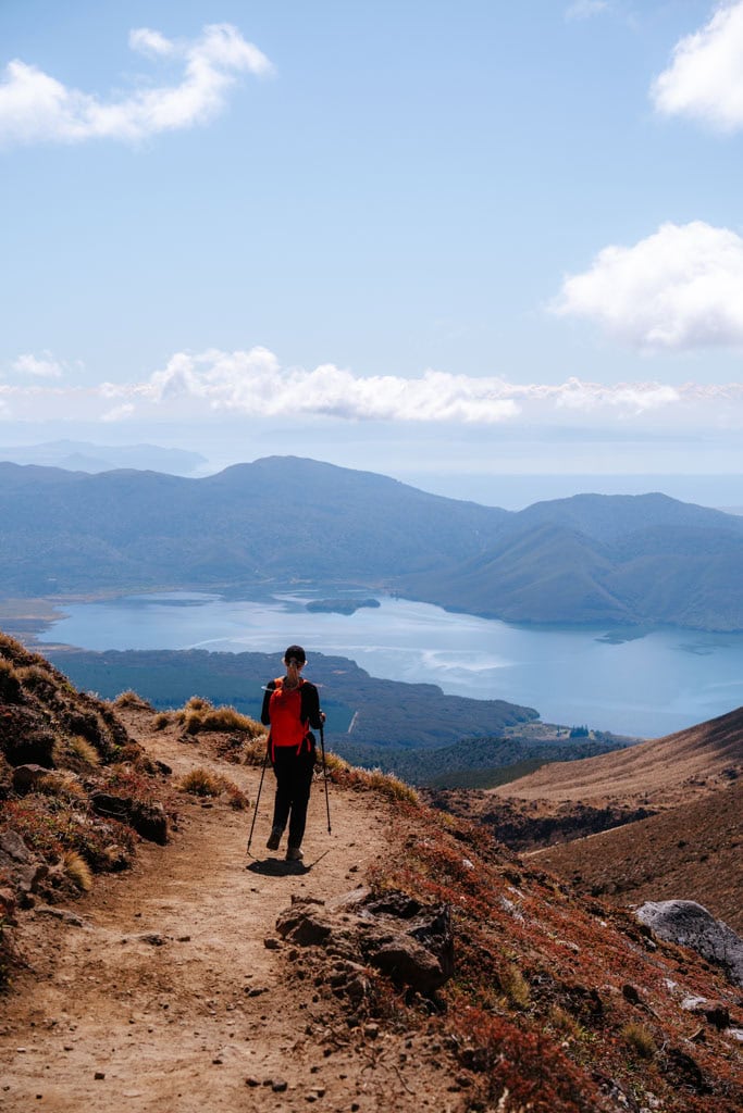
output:
M 648 900 L 635 915 L 658 938 L 720 963 L 743 986 L 743 939 L 695 900 Z

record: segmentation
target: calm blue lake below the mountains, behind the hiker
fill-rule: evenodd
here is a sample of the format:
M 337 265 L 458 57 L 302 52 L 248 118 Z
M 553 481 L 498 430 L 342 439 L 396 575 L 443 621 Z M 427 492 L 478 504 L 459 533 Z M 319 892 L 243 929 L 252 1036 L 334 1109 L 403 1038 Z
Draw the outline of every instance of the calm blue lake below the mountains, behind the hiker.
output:
M 275 652 L 300 642 L 372 676 L 428 681 L 450 695 L 505 699 L 549 722 L 656 737 L 743 705 L 743 634 L 688 630 L 515 627 L 381 598 L 352 615 L 310 612 L 306 599 L 262 601 L 168 593 L 66 607 L 41 636 L 84 649 Z M 608 640 L 607 640 L 608 634 Z M 622 633 L 619 632 L 619 638 Z

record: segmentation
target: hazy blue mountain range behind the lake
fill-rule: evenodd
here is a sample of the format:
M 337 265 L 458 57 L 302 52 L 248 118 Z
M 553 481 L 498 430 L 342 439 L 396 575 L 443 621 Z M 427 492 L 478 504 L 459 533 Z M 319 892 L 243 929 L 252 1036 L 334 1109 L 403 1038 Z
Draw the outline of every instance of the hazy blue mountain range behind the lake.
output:
M 662 494 L 509 512 L 296 457 L 204 479 L 4 463 L 0 521 L 7 595 L 292 583 L 516 622 L 743 630 L 743 519 Z

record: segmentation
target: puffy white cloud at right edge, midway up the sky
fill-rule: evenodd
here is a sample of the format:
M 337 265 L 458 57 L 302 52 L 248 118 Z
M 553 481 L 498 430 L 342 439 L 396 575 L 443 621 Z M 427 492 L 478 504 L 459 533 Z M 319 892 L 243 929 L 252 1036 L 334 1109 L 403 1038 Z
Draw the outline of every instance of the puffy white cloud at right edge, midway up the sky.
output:
M 609 246 L 568 276 L 551 309 L 585 317 L 638 348 L 743 344 L 743 239 L 702 220 L 664 224 L 634 247 Z

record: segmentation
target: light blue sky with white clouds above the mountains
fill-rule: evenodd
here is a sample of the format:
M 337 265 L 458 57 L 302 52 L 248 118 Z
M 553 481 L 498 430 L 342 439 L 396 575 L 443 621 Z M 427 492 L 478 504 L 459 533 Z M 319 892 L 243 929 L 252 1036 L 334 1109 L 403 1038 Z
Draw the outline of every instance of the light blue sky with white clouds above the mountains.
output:
M 0 443 L 740 474 L 742 154 L 743 2 L 3 0 Z

